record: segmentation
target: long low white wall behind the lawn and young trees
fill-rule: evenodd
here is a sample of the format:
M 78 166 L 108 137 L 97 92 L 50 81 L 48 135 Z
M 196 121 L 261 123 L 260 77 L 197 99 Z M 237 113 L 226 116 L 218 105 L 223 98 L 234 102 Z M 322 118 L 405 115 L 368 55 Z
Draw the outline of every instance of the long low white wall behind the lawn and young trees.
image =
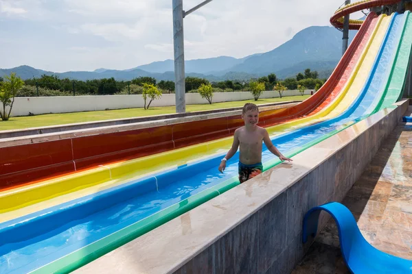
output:
M 306 90 L 305 94 L 310 94 Z M 298 90 L 286 90 L 283 96 L 300 95 Z M 264 91 L 260 98 L 279 97 L 277 91 Z M 241 101 L 253 99 L 251 92 L 215 92 L 212 102 Z M 174 105 L 174 94 L 164 94 L 161 99 L 152 101 L 150 106 Z M 198 93 L 187 93 L 186 104 L 208 103 Z M 61 96 L 61 97 L 17 97 L 14 101 L 12 116 L 33 114 L 82 112 L 93 110 L 117 110 L 122 108 L 143 108 L 144 99 L 141 95 L 93 95 L 93 96 Z

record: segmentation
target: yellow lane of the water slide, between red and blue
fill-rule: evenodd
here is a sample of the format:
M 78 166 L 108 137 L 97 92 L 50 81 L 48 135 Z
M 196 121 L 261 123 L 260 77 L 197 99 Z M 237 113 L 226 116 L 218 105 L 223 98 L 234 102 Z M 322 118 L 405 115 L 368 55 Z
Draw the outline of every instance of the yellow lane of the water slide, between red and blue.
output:
M 330 116 L 336 116 L 347 108 L 340 107 L 340 104 L 348 106 L 352 103 L 354 98 L 356 98 L 356 92 L 361 90 L 366 77 L 369 75 L 389 24 L 389 17 L 387 16 L 380 16 L 378 20 L 374 34 L 369 39 L 363 53 L 365 56 L 359 60 L 353 75 L 350 77 L 350 81 L 346 84 L 339 98 L 336 98 L 326 109 L 314 116 L 286 123 L 286 125 L 268 127 L 267 129 L 270 134 L 279 134 L 286 128 L 291 130 L 298 125 L 303 126 L 314 123 L 314 121 L 329 119 Z M 355 72 L 358 73 L 356 74 Z M 357 86 L 355 87 L 354 84 Z M 352 86 L 354 87 L 351 89 Z M 346 94 L 348 95 L 347 97 L 345 96 Z M 338 109 L 338 106 L 340 112 L 338 110 L 333 111 L 335 108 Z M 201 158 L 210 157 L 216 153 L 226 152 L 230 148 L 232 140 L 233 137 L 222 138 L 166 153 L 108 164 L 89 171 L 81 171 L 49 179 L 38 184 L 0 192 L 0 222 L 15 219 L 19 216 L 56 206 L 79 197 L 92 195 L 101 190 L 130 182 L 132 179 L 137 179 L 159 170 L 171 169 L 194 160 L 197 161 Z

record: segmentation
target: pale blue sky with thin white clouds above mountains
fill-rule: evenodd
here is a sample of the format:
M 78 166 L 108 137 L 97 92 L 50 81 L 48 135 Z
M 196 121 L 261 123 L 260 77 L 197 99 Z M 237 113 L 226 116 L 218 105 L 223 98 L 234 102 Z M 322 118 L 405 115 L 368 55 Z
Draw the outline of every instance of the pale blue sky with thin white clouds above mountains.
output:
M 203 0 L 183 0 L 190 10 Z M 185 60 L 271 51 L 343 0 L 214 0 L 184 19 Z M 355 14 L 359 18 L 362 14 Z M 173 59 L 172 0 L 0 0 L 0 68 L 131 69 Z

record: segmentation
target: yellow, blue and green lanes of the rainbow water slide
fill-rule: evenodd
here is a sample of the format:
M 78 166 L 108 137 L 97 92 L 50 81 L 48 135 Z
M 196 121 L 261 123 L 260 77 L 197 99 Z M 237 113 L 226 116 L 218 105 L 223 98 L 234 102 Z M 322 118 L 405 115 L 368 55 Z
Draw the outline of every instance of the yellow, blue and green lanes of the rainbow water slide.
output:
M 352 69 L 328 80 L 341 88 L 323 95 L 305 117 L 290 114 L 284 123 L 268 125 L 279 150 L 293 156 L 391 108 L 404 85 L 411 21 L 409 12 L 369 15 L 367 39 L 359 38 L 347 61 Z M 237 186 L 238 155 L 225 173 L 217 171 L 230 145 L 225 137 L 4 189 L 0 273 L 69 272 Z M 266 147 L 262 162 L 264 170 L 279 164 Z

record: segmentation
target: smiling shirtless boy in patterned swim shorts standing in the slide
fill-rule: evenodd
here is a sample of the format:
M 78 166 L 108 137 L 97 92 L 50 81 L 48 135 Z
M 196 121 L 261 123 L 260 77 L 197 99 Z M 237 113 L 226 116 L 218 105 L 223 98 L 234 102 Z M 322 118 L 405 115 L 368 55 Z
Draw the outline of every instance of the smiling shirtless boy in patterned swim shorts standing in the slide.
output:
M 219 171 L 223 172 L 226 168 L 226 161 L 235 153 L 239 152 L 239 181 L 240 184 L 262 173 L 262 140 L 271 153 L 277 155 L 280 160 L 292 161 L 280 153 L 273 145 L 266 129 L 258 126 L 259 109 L 254 103 L 247 103 L 242 110 L 244 127 L 236 129 L 233 136 L 233 145 L 222 159 Z

